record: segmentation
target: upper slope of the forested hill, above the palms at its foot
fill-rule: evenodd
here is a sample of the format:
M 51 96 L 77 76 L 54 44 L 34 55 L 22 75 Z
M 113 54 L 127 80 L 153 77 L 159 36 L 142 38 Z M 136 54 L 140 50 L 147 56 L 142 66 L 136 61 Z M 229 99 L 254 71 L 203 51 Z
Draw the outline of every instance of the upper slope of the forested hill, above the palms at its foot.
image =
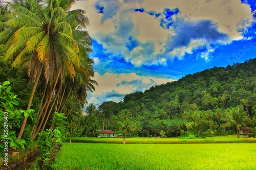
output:
M 152 86 L 144 92 L 126 94 L 121 109 L 143 106 L 181 114 L 196 105 L 200 110 L 243 104 L 251 114 L 256 105 L 256 59 L 189 74 L 178 81 Z M 157 107 L 157 108 L 156 108 Z M 190 106 L 191 107 L 191 106 Z M 133 110 L 133 109 L 132 109 Z

